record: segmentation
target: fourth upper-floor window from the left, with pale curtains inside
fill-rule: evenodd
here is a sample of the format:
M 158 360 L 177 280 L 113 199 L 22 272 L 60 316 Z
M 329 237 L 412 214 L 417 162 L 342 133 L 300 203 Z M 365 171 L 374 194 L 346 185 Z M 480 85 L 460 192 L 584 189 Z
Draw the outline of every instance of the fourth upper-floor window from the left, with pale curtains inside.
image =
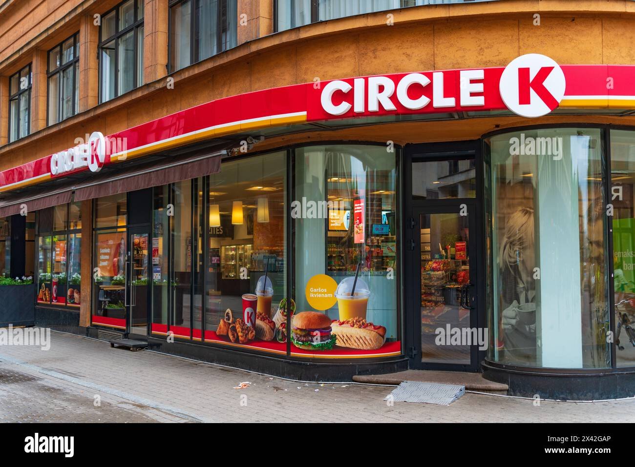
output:
M 170 72 L 237 45 L 237 0 L 170 1 Z

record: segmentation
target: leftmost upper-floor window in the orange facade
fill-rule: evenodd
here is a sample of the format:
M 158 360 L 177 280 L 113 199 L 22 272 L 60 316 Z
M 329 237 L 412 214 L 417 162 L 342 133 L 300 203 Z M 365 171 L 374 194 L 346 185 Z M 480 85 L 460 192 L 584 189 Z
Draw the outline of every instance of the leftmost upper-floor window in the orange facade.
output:
M 24 138 L 30 131 L 31 65 L 9 78 L 9 142 Z

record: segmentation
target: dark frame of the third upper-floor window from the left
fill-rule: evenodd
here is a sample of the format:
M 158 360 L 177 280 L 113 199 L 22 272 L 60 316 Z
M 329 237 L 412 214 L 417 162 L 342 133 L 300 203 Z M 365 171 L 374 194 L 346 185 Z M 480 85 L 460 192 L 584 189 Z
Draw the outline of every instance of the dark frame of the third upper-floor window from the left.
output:
M 119 8 L 121 6 L 123 6 L 123 4 L 128 3 L 129 0 L 123 0 L 121 1 L 121 3 L 116 4 L 113 8 L 110 8 L 110 10 L 106 11 L 102 16 L 102 23 L 100 23 L 99 25 L 99 32 L 98 32 L 98 42 L 97 42 L 97 60 L 99 62 L 99 103 L 104 103 L 104 102 L 109 102 L 110 100 L 116 99 L 117 97 L 121 96 L 121 94 L 119 93 L 119 47 L 117 46 L 119 44 L 119 40 L 121 39 L 121 37 L 125 36 L 126 34 L 128 34 L 130 31 L 134 31 L 133 34 L 133 42 L 134 42 L 134 48 L 135 48 L 135 57 L 134 57 L 134 63 L 135 63 L 135 85 L 133 86 L 132 89 L 130 89 L 129 91 L 126 91 L 126 93 L 129 93 L 130 91 L 133 91 L 134 89 L 139 88 L 140 86 L 143 86 L 144 82 L 143 82 L 143 72 L 144 70 L 139 70 L 138 69 L 138 59 L 139 59 L 139 48 L 138 46 L 138 41 L 139 41 L 139 29 L 144 27 L 145 24 L 145 6 L 144 6 L 144 16 L 142 18 L 138 18 L 138 11 L 139 11 L 139 4 L 143 2 L 143 0 L 132 0 L 133 1 L 133 11 L 135 14 L 135 18 L 132 22 L 131 25 L 126 26 L 124 29 L 119 29 Z M 109 37 L 105 37 L 104 39 L 102 39 L 102 32 L 104 31 L 104 24 L 103 24 L 103 20 L 106 16 L 110 15 L 110 13 L 112 13 L 114 11 L 115 13 L 115 32 L 114 34 L 112 34 L 112 36 Z M 145 34 L 145 29 L 144 29 L 144 34 Z M 114 79 L 114 96 L 112 96 L 112 98 L 109 98 L 107 100 L 104 100 L 104 95 L 103 95 L 103 78 L 104 78 L 104 61 L 102 60 L 102 49 L 104 49 L 104 46 L 108 43 L 114 43 L 114 63 L 116 65 L 116 70 L 115 70 L 115 79 Z M 141 74 L 141 75 L 140 75 Z M 141 80 L 139 80 L 139 77 L 141 77 Z M 125 94 L 125 93 L 124 93 Z

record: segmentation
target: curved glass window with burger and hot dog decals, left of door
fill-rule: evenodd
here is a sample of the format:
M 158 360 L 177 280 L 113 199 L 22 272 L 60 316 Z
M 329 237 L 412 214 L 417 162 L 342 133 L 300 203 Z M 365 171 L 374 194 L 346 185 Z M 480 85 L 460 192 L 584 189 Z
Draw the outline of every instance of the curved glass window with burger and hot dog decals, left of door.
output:
M 291 339 L 291 355 L 401 353 L 397 187 L 395 153 L 385 147 L 321 145 L 296 150 L 293 296 L 298 315 L 319 312 L 328 319 L 326 338 L 323 329 L 307 329 L 311 325 L 294 319 L 298 329 L 291 329 L 297 334 Z M 333 345 L 328 343 L 329 322 L 337 336 Z M 323 326 L 320 322 L 313 327 Z

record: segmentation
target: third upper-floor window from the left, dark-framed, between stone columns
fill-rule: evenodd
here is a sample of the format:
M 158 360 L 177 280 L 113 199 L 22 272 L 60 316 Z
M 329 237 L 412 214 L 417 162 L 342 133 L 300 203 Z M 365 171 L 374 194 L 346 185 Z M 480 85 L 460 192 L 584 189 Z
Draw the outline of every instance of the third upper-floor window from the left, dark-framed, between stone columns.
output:
M 144 84 L 144 0 L 128 0 L 102 16 L 100 102 Z

